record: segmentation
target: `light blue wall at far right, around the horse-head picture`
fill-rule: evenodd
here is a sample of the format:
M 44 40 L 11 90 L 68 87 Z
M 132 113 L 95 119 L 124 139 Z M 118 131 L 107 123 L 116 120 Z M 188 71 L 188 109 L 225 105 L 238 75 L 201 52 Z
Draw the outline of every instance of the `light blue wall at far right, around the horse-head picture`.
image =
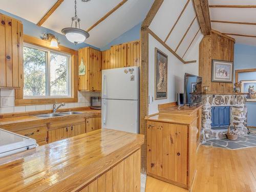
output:
M 243 44 L 234 45 L 234 70 L 256 69 L 256 47 Z M 239 75 L 239 80 L 256 80 L 256 73 Z M 246 102 L 248 126 L 256 126 L 256 102 Z

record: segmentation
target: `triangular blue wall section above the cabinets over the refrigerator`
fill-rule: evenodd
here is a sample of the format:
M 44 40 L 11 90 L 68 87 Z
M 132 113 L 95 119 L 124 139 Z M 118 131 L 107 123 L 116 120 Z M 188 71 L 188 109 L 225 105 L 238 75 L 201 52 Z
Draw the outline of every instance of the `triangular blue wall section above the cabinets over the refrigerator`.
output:
M 123 33 L 119 37 L 112 40 L 108 45 L 105 45 L 104 47 L 100 48 L 100 50 L 105 51 L 105 50 L 110 49 L 110 47 L 113 46 L 113 45 L 123 44 L 124 42 L 129 42 L 129 41 L 140 39 L 141 24 L 142 23 L 139 23 L 138 25 L 136 25 L 135 27 L 133 27 L 129 31 L 126 31 L 125 33 Z

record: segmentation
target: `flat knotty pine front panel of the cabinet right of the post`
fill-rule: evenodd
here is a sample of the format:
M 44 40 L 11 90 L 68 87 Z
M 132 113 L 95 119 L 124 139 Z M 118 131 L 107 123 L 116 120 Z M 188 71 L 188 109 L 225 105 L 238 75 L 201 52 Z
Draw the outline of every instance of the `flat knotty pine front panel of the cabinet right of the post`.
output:
M 187 125 L 147 122 L 147 173 L 187 185 Z

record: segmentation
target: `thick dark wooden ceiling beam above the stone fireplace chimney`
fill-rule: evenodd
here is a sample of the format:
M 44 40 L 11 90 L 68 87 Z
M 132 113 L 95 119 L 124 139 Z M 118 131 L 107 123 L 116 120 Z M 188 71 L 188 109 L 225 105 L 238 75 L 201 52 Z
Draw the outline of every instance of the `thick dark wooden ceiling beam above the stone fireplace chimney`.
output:
M 194 0 L 194 6 L 203 35 L 210 35 L 211 25 L 208 0 Z

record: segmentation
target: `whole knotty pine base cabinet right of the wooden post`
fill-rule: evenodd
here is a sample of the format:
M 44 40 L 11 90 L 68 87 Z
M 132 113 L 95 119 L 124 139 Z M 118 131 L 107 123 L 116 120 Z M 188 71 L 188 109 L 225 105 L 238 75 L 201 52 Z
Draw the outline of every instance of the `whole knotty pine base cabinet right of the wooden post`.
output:
M 197 120 L 147 121 L 147 175 L 190 188 L 196 172 Z

